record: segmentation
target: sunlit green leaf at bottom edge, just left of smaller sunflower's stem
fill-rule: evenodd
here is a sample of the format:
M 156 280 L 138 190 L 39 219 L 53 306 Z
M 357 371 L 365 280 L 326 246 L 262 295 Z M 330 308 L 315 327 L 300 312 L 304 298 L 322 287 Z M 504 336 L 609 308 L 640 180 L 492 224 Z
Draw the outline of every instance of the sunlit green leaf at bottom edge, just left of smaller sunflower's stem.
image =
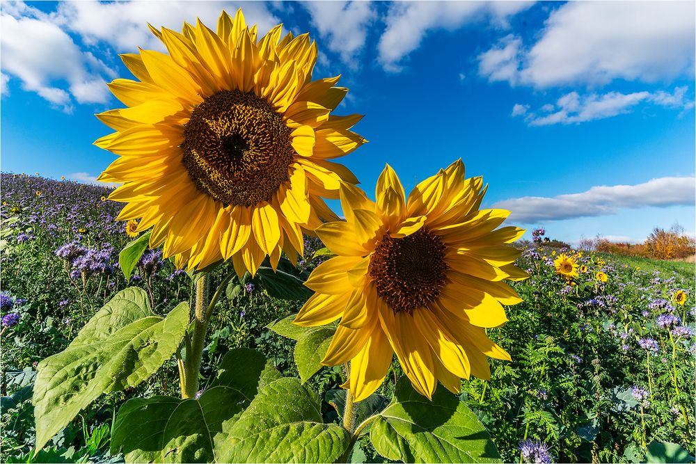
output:
M 259 392 L 220 442 L 221 461 L 332 463 L 349 445 L 336 424 L 322 423 L 317 394 L 296 378 L 280 378 Z

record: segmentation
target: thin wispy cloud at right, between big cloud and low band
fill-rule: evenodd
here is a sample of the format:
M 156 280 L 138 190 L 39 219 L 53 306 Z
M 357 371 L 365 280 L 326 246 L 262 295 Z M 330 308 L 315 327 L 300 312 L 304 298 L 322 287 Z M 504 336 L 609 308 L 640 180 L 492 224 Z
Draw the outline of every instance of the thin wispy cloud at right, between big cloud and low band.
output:
M 612 116 L 628 113 L 639 104 L 654 104 L 665 108 L 688 110 L 694 107 L 693 99 L 686 95 L 688 88 L 677 87 L 674 93 L 663 90 L 657 92 L 604 94 L 592 93 L 580 96 L 577 92 L 567 93 L 560 97 L 556 104 L 544 104 L 540 111 L 548 113 L 539 115 L 528 111 L 529 105 L 515 104 L 512 116 L 524 116 L 530 126 L 546 126 L 553 124 L 574 124 L 596 119 L 611 118 Z

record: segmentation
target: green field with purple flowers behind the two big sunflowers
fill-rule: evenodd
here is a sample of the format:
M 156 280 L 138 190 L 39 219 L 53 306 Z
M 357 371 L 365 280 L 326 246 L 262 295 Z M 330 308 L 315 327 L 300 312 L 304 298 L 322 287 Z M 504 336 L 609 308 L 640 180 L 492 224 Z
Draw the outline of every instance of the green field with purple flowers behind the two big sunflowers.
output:
M 110 452 L 115 411 L 134 397 L 177 396 L 174 358 L 148 381 L 103 394 L 36 456 L 35 367 L 65 349 L 118 291 L 140 287 L 164 316 L 191 300 L 191 278 L 162 260 L 161 251 L 147 250 L 126 280 L 118 254 L 132 238 L 115 221 L 121 205 L 104 198 L 108 189 L 6 173 L 1 184 L 0 461 L 123 462 Z M 313 258 L 320 248 L 306 237 L 305 259 L 288 275 L 306 279 L 322 260 Z M 573 285 L 555 271 L 561 253 L 580 266 Z M 215 271 L 214 284 L 229 266 Z M 519 266 L 531 275 L 512 283 L 523 303 L 507 307 L 509 322 L 489 330 L 512 362 L 491 360 L 491 381 L 463 381 L 460 395 L 503 461 L 693 462 L 694 265 L 578 253 L 541 241 L 523 250 Z M 683 300 L 675 298 L 680 292 Z M 295 342 L 266 326 L 299 310 L 307 297 L 278 294 L 262 275 L 232 280 L 205 340 L 203 390 L 223 355 L 238 348 L 257 349 L 283 376 L 297 376 Z M 396 362 L 390 369 L 378 391 L 386 396 L 401 374 Z M 308 381 L 327 400 L 326 422 L 338 421 L 328 400 L 340 389 L 340 374 L 325 367 Z M 383 462 L 366 437 L 358 446 L 353 462 Z

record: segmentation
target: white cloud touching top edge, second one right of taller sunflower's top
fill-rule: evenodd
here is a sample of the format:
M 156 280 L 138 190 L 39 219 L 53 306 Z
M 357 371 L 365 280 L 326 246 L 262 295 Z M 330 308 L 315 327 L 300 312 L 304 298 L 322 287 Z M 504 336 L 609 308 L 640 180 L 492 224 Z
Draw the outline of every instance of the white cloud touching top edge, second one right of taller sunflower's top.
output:
M 386 30 L 377 49 L 378 61 L 387 71 L 402 70 L 402 59 L 420 46 L 428 32 L 454 31 L 485 17 L 507 26 L 507 19 L 532 6 L 526 1 L 408 1 L 390 3 Z

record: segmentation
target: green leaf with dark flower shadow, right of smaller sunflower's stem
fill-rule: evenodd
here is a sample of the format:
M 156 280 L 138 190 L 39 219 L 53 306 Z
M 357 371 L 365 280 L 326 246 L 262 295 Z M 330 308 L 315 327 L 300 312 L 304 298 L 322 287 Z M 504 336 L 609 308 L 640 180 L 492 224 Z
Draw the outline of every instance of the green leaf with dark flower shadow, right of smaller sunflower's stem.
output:
M 459 398 L 439 386 L 432 401 L 397 382 L 392 402 L 370 430 L 374 449 L 405 463 L 499 463 L 491 436 Z

